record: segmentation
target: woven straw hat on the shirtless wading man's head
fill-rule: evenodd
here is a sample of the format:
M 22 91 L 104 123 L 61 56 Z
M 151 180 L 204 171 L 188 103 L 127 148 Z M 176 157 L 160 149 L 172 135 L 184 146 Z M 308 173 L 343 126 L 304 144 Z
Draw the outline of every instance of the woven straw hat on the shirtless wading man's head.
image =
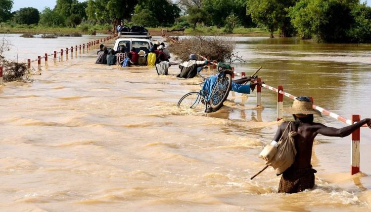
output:
M 291 107 L 284 108 L 284 111 L 291 114 L 318 114 L 322 116 L 319 110 L 313 109 L 313 103 L 309 97 L 297 97 Z

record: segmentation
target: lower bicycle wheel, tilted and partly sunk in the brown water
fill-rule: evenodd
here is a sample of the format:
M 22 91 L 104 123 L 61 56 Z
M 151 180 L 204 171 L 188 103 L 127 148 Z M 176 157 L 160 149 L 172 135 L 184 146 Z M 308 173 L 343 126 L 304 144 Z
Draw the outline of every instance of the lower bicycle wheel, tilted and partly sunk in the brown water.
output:
M 199 92 L 189 92 L 185 94 L 178 102 L 179 107 L 192 108 L 197 111 L 205 111 L 205 97 Z

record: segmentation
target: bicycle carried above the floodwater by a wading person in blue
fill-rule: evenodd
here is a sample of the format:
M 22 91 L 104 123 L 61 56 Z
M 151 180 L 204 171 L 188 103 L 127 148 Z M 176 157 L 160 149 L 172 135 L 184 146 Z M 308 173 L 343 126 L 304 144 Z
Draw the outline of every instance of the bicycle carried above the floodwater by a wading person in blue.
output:
M 207 68 L 203 68 L 203 69 L 207 69 Z M 258 70 L 256 70 L 249 78 L 237 79 L 237 80 L 234 80 L 234 82 L 245 84 L 248 81 L 256 79 L 258 76 L 254 76 L 254 75 L 260 69 L 261 67 Z M 206 113 L 215 112 L 218 109 L 220 109 L 220 107 L 223 106 L 224 101 L 227 99 L 229 92 L 231 91 L 233 70 L 231 66 L 224 64 L 224 63 L 218 63 L 217 70 L 218 70 L 218 73 L 216 74 L 217 80 L 213 84 L 212 92 L 210 95 L 207 92 L 205 93 L 205 91 L 203 91 L 203 89 L 201 88 L 201 90 L 198 92 L 192 91 L 192 92 L 185 94 L 179 100 L 177 106 L 182 107 L 182 108 L 192 108 L 198 111 L 203 110 Z M 207 78 L 202 76 L 199 73 L 200 71 L 198 71 L 198 75 L 204 79 L 200 83 L 201 87 L 203 87 L 203 84 L 205 83 Z M 253 86 L 251 89 L 254 90 L 254 88 L 255 86 Z

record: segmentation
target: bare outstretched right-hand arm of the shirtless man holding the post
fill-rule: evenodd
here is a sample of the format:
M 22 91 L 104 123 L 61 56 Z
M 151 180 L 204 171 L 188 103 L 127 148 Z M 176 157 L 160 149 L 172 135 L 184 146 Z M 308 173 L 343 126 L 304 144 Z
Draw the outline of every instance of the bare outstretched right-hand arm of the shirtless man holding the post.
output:
M 353 133 L 355 130 L 357 130 L 364 124 L 367 124 L 369 128 L 371 128 L 371 119 L 365 118 L 355 124 L 352 124 L 352 125 L 349 125 L 343 128 L 339 128 L 339 129 L 334 128 L 334 127 L 327 127 L 319 123 L 317 123 L 314 127 L 317 128 L 318 134 L 321 134 L 324 136 L 346 137 L 346 136 L 349 136 L 351 133 Z

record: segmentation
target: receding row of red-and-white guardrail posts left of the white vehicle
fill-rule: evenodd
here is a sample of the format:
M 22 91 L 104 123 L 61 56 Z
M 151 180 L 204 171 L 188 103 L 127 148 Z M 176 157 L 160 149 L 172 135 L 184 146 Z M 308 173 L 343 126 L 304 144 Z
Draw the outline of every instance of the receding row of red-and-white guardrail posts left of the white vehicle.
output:
M 87 51 L 89 50 L 89 48 L 91 47 L 94 47 L 95 45 L 98 45 L 99 43 L 103 43 L 103 42 L 107 42 L 111 39 L 114 39 L 116 37 L 116 35 L 110 35 L 110 36 L 107 36 L 107 37 L 104 37 L 104 38 L 100 38 L 99 39 L 96 39 L 96 40 L 93 40 L 93 41 L 89 41 L 87 43 Z M 85 54 L 85 43 L 84 44 L 80 44 L 80 54 Z M 83 47 L 83 51 L 81 51 L 81 46 Z M 77 47 L 78 45 L 75 45 L 75 55 L 77 57 L 78 53 L 77 53 Z M 73 59 L 73 51 L 74 51 L 74 47 L 71 46 L 71 48 L 66 48 L 65 52 L 66 52 L 66 61 L 68 60 L 68 52 L 69 50 L 71 50 L 71 59 Z M 31 60 L 31 59 L 27 59 L 27 69 L 28 69 L 28 72 L 30 72 L 31 70 L 31 63 L 33 62 L 38 62 L 38 70 L 39 71 L 42 71 L 41 69 L 41 60 L 42 59 L 45 59 L 45 67 L 47 68 L 47 59 L 48 57 L 50 56 L 53 56 L 53 61 L 54 61 L 54 64 L 57 62 L 57 54 L 60 54 L 60 61 L 63 61 L 63 49 L 61 49 L 59 52 L 57 51 L 54 51 L 53 53 L 51 54 L 48 54 L 48 53 L 45 53 L 45 56 L 41 57 L 41 56 L 38 56 L 37 59 L 35 60 Z M 3 85 L 3 72 L 5 72 L 6 70 L 8 69 L 11 69 L 11 68 L 14 68 L 14 67 L 2 67 L 0 66 L 0 86 Z

